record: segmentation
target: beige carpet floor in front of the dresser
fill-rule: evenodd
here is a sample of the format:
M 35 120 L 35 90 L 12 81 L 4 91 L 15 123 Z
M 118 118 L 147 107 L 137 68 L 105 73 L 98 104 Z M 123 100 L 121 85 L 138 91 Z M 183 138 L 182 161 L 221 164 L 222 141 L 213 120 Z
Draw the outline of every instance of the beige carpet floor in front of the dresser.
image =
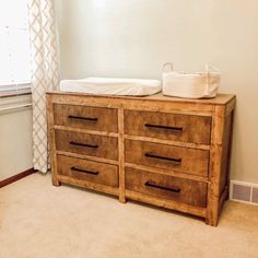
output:
M 35 174 L 0 189 L 0 257 L 258 257 L 258 207 L 227 202 L 211 227 Z

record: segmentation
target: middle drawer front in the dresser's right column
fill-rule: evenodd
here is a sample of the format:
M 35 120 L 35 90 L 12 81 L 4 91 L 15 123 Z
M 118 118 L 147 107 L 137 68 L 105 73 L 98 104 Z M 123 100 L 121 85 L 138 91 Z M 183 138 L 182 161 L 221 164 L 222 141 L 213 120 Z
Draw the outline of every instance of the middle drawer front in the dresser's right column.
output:
M 208 176 L 209 151 L 126 140 L 126 162 Z

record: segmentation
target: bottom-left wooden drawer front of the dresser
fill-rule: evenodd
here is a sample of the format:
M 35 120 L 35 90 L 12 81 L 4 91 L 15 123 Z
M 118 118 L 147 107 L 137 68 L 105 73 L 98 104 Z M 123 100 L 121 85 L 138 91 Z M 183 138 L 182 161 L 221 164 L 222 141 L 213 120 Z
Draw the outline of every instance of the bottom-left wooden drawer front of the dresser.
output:
M 57 156 L 57 162 L 59 175 L 99 185 L 118 187 L 118 167 L 115 165 L 62 155 Z

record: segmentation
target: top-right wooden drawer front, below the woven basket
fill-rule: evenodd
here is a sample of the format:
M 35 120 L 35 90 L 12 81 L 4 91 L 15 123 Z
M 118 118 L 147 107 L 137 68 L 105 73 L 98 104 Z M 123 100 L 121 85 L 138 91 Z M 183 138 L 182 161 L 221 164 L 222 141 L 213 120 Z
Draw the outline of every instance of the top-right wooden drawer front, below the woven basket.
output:
M 125 110 L 125 133 L 209 144 L 211 117 Z

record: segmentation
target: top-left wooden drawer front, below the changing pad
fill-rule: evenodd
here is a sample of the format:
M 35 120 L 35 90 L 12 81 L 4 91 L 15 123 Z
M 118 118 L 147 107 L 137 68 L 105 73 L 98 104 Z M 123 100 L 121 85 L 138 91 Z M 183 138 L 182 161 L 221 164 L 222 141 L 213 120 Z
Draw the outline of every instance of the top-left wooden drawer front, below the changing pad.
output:
M 117 109 L 73 105 L 54 105 L 55 125 L 117 132 Z

